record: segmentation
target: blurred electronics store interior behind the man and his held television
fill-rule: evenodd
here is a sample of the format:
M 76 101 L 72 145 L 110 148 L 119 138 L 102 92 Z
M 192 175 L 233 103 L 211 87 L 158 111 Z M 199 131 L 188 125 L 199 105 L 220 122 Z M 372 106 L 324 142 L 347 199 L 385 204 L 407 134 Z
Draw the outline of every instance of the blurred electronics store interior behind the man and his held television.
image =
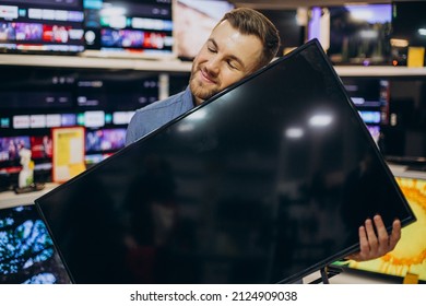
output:
M 0 283 L 73 282 L 35 201 L 122 152 L 134 111 L 184 91 L 240 7 L 275 24 L 280 58 L 318 39 L 416 216 L 388 255 L 327 262 L 303 282 L 426 282 L 426 1 L 0 0 Z

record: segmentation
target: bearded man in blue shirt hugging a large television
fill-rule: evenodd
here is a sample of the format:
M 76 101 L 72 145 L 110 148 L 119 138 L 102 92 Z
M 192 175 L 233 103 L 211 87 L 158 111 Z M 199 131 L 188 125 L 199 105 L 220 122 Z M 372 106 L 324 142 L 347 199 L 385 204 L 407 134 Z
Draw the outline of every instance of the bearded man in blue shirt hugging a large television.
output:
M 214 94 L 267 66 L 280 46 L 275 26 L 261 13 L 239 8 L 226 13 L 213 28 L 191 69 L 186 91 L 137 110 L 126 143 L 162 127 Z M 377 234 L 376 234 L 377 233 Z M 379 215 L 359 227 L 360 250 L 348 259 L 369 260 L 391 251 L 401 237 L 401 222 L 388 232 Z

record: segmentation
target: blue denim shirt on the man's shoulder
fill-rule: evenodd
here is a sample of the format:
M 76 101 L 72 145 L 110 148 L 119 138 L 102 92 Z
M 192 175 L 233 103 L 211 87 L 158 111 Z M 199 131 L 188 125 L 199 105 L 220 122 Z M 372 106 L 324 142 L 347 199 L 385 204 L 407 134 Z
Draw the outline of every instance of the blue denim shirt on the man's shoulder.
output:
M 156 130 L 194 107 L 189 86 L 166 99 L 154 102 L 138 109 L 126 133 L 126 145 Z

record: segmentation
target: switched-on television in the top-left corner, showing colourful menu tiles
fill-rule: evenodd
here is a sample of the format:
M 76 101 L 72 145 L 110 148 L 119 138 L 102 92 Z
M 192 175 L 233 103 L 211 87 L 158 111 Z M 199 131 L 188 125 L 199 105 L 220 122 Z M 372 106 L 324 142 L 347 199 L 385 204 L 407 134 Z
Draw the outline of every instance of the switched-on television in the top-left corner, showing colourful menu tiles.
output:
M 0 1 L 0 50 L 78 54 L 84 50 L 82 0 Z

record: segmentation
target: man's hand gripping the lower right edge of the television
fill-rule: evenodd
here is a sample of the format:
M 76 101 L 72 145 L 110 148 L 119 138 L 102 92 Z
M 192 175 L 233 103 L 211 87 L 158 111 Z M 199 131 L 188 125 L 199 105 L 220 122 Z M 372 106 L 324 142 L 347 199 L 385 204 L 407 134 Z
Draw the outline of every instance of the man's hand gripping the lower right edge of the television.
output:
M 376 227 L 376 232 L 375 232 Z M 394 249 L 401 238 L 401 222 L 393 221 L 392 233 L 388 235 L 380 215 L 375 215 L 374 224 L 367 219 L 364 226 L 359 226 L 359 252 L 347 256 L 347 259 L 365 261 L 379 258 Z

